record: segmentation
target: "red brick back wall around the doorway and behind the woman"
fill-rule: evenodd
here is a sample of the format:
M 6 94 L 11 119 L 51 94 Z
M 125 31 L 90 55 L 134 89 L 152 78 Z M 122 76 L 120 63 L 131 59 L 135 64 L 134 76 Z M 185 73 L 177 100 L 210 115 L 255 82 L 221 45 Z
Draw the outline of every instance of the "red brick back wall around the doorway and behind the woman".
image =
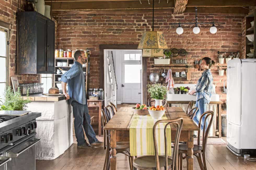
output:
M 211 34 L 211 25 L 200 25 L 198 35 L 192 32 L 193 25 L 182 26 L 184 33 L 176 34 L 177 26 L 170 27 L 173 22 L 193 22 L 194 14 L 173 16 L 172 14 L 155 14 L 155 30 L 163 31 L 169 48 L 185 48 L 188 51 L 189 65 L 193 65 L 195 59 L 208 56 L 215 61 L 217 51 L 242 51 L 242 23 L 244 16 L 229 14 L 199 14 L 200 22 L 225 22 L 217 25 L 218 32 Z M 99 87 L 99 45 L 100 44 L 138 44 L 143 31 L 152 29 L 152 14 L 129 15 L 102 15 L 102 14 L 60 14 L 54 16 L 57 21 L 57 48 L 80 49 L 90 48 L 91 74 L 90 87 Z M 181 58 L 181 57 L 177 57 Z M 158 68 L 151 68 L 153 59 L 148 59 L 148 75 Z M 224 64 L 226 65 L 226 64 Z M 183 69 L 173 68 L 173 71 Z M 176 83 L 196 84 L 201 72 L 195 68 L 189 68 L 191 80 L 180 79 Z M 216 67 L 211 69 L 216 92 L 222 101 L 226 96 L 221 93 L 220 87 L 226 76 L 219 76 Z M 149 81 L 149 80 L 148 80 Z

